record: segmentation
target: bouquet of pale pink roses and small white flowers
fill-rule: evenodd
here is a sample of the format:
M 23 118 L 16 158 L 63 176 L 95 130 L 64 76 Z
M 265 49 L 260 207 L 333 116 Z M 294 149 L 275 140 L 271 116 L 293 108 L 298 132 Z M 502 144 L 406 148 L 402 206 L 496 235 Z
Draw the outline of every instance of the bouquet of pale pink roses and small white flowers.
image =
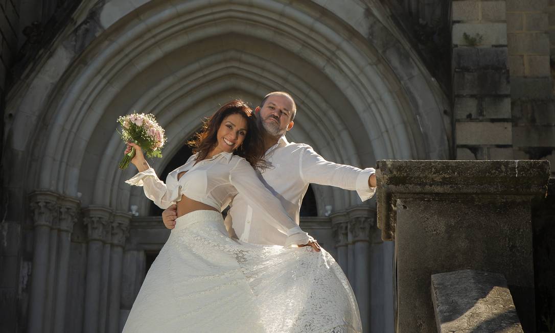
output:
M 147 157 L 162 157 L 162 150 L 160 149 L 166 142 L 166 138 L 164 129 L 158 125 L 153 114 L 132 113 L 122 115 L 118 118 L 118 123 L 122 125 L 120 134 L 123 142 L 138 144 Z M 132 148 L 119 163 L 119 168 L 122 170 L 127 168 L 134 156 L 135 148 Z

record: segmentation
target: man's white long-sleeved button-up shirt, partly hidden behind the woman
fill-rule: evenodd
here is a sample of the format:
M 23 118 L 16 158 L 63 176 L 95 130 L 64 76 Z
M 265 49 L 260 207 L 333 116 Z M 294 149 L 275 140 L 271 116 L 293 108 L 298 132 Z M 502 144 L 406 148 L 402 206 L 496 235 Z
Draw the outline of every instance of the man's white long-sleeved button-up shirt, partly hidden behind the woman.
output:
M 297 225 L 302 198 L 311 183 L 356 190 L 362 201 L 370 199 L 376 191 L 368 184 L 370 175 L 375 173 L 374 168 L 362 170 L 328 162 L 307 144 L 287 142 L 285 135 L 268 149 L 265 160 L 269 168 L 257 174 Z M 248 243 L 283 244 L 287 238 L 265 221 L 264 214 L 253 209 L 241 194 L 233 199 L 225 224 L 231 235 L 235 234 Z

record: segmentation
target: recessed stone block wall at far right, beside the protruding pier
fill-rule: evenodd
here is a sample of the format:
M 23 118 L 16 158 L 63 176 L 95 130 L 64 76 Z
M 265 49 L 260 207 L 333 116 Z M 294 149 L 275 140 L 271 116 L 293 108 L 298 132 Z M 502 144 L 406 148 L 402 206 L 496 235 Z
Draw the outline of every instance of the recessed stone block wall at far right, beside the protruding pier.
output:
M 548 0 L 507 1 L 514 159 L 555 163 Z

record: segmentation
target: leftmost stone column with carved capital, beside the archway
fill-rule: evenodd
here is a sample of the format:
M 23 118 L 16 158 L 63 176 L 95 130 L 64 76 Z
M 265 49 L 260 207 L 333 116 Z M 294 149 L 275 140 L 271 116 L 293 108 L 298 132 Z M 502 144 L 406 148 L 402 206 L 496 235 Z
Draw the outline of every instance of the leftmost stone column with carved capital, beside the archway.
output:
M 29 300 L 29 333 L 43 332 L 49 272 L 50 231 L 58 219 L 58 194 L 35 191 L 29 195 L 33 216 L 33 266 Z M 47 330 L 44 330 L 47 331 Z

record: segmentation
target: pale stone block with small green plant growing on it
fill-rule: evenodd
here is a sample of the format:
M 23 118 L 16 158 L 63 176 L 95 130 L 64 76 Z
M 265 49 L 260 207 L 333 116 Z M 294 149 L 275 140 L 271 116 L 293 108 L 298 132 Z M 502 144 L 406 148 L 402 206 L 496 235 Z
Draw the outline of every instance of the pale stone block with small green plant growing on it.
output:
M 507 24 L 505 23 L 455 23 L 452 26 L 452 43 L 468 46 L 463 35 L 482 37 L 480 46 L 507 45 Z

